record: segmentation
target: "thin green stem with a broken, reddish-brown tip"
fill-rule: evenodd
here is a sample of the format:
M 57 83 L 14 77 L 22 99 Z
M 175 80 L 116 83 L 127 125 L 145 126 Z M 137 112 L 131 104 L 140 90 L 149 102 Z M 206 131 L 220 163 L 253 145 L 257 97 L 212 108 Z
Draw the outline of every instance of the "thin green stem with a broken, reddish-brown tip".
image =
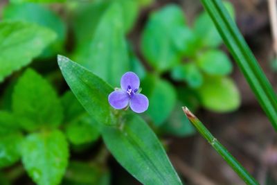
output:
M 203 125 L 199 119 L 193 115 L 193 113 L 190 112 L 190 110 L 187 107 L 182 107 L 184 110 L 184 113 L 188 117 L 191 123 L 196 127 L 197 131 L 202 134 L 204 139 L 208 141 L 208 143 L 211 144 L 211 146 L 217 151 L 218 154 L 222 156 L 222 158 L 233 168 L 235 173 L 237 173 L 246 184 L 249 185 L 258 185 L 258 182 L 256 182 L 256 179 L 254 179 L 248 172 L 243 168 L 243 166 L 233 157 L 227 150 L 222 146 L 220 141 L 217 141 L 217 139 L 211 134 L 211 132 L 208 131 L 208 129 Z

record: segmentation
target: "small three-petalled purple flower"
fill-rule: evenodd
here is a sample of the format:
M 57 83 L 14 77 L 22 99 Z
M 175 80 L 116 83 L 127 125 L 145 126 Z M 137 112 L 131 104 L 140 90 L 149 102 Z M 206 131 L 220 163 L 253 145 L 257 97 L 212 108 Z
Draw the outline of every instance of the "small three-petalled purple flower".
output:
M 139 77 L 136 73 L 127 72 L 120 80 L 121 89 L 109 94 L 109 104 L 115 109 L 123 109 L 129 105 L 136 113 L 148 109 L 148 98 L 139 93 Z

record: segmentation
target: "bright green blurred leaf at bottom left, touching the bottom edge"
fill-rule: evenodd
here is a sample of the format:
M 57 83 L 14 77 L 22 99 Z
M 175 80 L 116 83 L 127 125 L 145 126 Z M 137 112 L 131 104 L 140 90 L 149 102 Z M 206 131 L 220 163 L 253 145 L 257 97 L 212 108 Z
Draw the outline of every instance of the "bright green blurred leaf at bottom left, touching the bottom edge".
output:
M 62 132 L 29 134 L 22 146 L 22 162 L 38 185 L 60 184 L 68 164 L 69 148 Z

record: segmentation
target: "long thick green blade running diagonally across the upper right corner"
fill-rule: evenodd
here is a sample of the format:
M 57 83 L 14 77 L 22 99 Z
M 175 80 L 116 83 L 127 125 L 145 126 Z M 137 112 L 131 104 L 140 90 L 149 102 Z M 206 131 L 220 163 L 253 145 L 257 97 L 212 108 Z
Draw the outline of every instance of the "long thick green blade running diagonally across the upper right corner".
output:
M 267 76 L 260 68 L 240 30 L 224 8 L 222 1 L 201 1 L 277 132 L 277 97 Z

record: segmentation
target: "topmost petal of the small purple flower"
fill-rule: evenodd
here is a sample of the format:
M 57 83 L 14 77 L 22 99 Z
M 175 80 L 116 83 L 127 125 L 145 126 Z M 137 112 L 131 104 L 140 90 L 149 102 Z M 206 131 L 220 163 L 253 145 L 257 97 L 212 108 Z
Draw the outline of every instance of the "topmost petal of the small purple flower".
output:
M 120 80 L 121 89 L 127 91 L 128 86 L 131 86 L 132 90 L 139 89 L 139 76 L 134 72 L 125 73 Z

